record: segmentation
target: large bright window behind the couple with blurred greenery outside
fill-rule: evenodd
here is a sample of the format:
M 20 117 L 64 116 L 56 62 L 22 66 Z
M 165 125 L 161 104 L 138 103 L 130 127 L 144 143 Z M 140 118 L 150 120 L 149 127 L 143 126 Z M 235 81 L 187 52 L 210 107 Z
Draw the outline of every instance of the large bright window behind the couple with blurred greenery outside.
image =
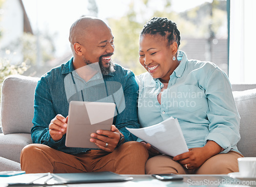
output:
M 11 55 L 15 54 L 15 58 L 8 54 L 8 58 L 11 58 L 13 63 L 26 61 L 30 64 L 25 75 L 41 76 L 52 67 L 65 63 L 71 58 L 69 28 L 82 15 L 98 16 L 110 25 L 115 36 L 114 60 L 132 69 L 135 75 L 145 71 L 138 61 L 138 38 L 145 22 L 153 16 L 167 17 L 176 22 L 181 32 L 179 50 L 184 51 L 189 59 L 212 61 L 228 73 L 226 1 L 6 0 L 5 2 L 8 6 L 0 5 L 2 8 L 0 16 L 5 20 L 8 11 L 11 15 L 16 15 L 17 19 L 6 22 L 18 21 L 18 24 L 12 24 L 15 29 L 11 30 L 19 34 L 14 39 L 8 35 L 7 30 L 2 29 L 0 39 L 6 41 L 7 36 L 10 41 L 0 48 L 3 53 L 9 50 Z M 28 25 L 32 28 L 30 32 L 31 28 L 29 29 Z M 2 25 L 2 28 L 7 27 Z

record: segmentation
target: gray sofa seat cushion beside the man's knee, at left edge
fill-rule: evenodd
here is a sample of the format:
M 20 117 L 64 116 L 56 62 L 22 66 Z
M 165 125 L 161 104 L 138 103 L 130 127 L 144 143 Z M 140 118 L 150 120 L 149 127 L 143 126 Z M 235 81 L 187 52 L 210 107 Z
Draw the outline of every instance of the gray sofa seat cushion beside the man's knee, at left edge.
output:
M 29 133 L 1 135 L 0 157 L 19 162 L 20 152 L 28 144 L 32 144 Z

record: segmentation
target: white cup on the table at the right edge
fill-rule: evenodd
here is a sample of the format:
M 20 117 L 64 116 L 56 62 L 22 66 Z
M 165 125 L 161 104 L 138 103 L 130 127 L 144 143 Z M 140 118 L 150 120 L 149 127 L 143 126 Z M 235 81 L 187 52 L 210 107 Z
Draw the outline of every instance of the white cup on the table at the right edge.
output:
M 239 174 L 242 177 L 256 177 L 256 157 L 238 158 Z

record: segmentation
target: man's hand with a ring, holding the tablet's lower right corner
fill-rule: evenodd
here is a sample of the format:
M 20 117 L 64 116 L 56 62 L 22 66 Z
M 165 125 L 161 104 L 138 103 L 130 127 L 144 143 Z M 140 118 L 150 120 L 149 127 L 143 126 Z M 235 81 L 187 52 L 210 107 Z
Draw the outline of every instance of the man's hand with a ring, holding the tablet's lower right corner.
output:
M 95 143 L 100 149 L 113 152 L 119 142 L 121 134 L 116 126 L 112 125 L 111 131 L 97 130 L 96 133 L 91 134 L 91 137 L 90 142 Z

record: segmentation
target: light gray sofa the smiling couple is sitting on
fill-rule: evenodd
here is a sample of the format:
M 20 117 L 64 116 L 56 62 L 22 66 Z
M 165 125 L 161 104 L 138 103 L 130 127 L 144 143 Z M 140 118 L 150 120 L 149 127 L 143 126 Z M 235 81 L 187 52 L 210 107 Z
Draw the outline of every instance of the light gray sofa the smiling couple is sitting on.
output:
M 31 144 L 34 90 L 38 78 L 9 76 L 2 86 L 0 171 L 20 170 L 19 156 Z M 256 156 L 256 84 L 232 85 L 234 100 L 241 116 L 241 141 L 244 156 Z

